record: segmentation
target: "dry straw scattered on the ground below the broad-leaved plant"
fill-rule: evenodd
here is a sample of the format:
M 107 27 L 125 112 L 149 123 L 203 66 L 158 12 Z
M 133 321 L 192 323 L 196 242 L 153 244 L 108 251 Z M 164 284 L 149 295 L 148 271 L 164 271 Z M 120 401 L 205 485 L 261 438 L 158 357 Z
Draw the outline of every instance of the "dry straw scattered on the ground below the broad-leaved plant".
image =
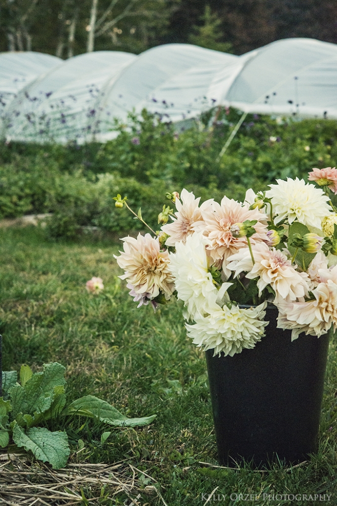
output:
M 0 506 L 94 506 L 102 504 L 101 494 L 109 499 L 125 494 L 125 505 L 140 506 L 140 491 L 156 494 L 167 506 L 156 480 L 125 461 L 112 465 L 69 463 L 64 469 L 53 470 L 42 462 L 28 462 L 23 455 L 3 455 L 0 460 L 4 457 L 0 463 Z M 144 486 L 139 476 L 147 477 L 153 485 Z

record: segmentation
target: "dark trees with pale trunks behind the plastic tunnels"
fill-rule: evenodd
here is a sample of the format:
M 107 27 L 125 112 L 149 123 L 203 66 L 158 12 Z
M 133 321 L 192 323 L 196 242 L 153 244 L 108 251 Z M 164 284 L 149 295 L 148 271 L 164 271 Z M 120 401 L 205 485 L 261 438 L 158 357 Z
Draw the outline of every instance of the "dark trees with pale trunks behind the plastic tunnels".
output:
M 0 0 L 0 51 L 69 58 L 190 43 L 242 54 L 287 37 L 337 43 L 333 0 Z

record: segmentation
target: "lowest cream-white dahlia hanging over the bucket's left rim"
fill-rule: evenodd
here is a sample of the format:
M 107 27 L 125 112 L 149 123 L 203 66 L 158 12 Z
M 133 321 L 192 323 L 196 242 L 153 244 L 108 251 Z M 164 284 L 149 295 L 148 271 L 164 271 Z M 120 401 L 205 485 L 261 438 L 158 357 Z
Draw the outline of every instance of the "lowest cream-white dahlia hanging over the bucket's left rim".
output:
M 263 320 L 266 306 L 266 301 L 248 309 L 224 306 L 211 315 L 195 317 L 194 325 L 186 323 L 187 335 L 205 351 L 214 349 L 214 356 L 223 352 L 225 356 L 232 357 L 244 348 L 254 348 L 261 341 L 264 328 L 269 323 Z

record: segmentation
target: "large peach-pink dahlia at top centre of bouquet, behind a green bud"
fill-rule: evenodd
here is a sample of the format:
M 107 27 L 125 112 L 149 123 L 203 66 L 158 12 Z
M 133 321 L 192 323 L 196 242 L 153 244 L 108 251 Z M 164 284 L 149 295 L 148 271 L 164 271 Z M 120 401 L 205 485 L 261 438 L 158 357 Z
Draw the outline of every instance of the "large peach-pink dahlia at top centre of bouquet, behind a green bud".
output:
M 194 228 L 203 232 L 207 238 L 207 253 L 216 267 L 222 267 L 225 276 L 230 275 L 227 259 L 240 248 L 247 246 L 247 238 L 234 237 L 230 231 L 232 225 L 246 220 L 257 220 L 254 225 L 256 233 L 250 238 L 252 244 L 267 240 L 267 225 L 262 223 L 266 215 L 259 209 L 249 209 L 249 204 L 240 204 L 226 196 L 221 204 L 213 201 L 202 208 L 203 222 L 197 222 Z

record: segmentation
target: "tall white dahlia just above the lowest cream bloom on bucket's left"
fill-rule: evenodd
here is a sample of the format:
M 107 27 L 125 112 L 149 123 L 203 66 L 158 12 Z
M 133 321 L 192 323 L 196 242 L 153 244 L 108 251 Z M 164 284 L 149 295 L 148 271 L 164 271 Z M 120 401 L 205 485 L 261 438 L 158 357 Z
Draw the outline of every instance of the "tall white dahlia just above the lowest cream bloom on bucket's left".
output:
M 208 271 L 208 260 L 201 234 L 193 234 L 186 242 L 175 244 L 176 252 L 170 254 L 170 270 L 175 279 L 178 299 L 185 305 L 186 319 L 205 315 L 217 308 L 218 291 Z

